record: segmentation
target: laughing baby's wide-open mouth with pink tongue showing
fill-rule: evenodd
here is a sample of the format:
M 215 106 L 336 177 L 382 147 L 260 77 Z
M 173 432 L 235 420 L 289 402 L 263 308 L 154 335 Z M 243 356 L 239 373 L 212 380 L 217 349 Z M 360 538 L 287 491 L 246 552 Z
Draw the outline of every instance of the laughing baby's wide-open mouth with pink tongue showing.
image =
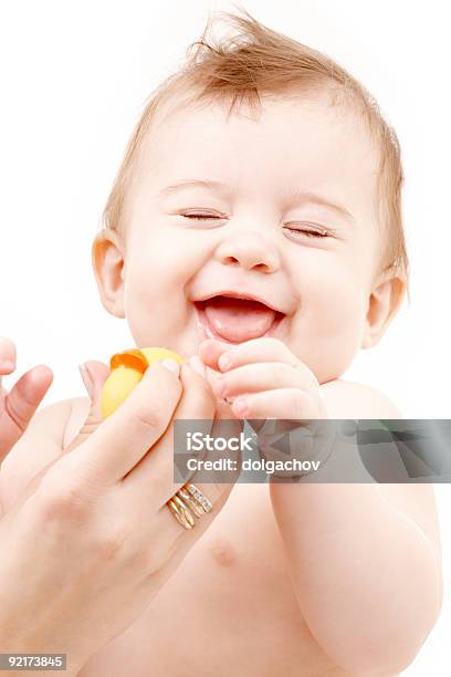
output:
M 285 316 L 260 301 L 227 295 L 196 301 L 195 308 L 207 336 L 228 343 L 272 335 Z

